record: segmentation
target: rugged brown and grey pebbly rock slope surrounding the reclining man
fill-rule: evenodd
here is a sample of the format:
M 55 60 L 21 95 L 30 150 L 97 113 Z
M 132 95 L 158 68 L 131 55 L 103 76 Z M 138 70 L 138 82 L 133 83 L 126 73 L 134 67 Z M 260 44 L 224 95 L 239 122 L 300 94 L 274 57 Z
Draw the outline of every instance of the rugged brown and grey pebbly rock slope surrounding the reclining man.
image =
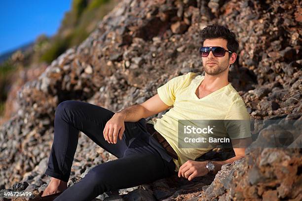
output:
M 203 74 L 199 32 L 208 24 L 220 23 L 238 35 L 238 60 L 229 81 L 251 117 L 295 121 L 294 132 L 301 131 L 301 6 L 298 0 L 122 0 L 84 42 L 18 92 L 20 110 L 0 128 L 0 197 L 8 189 L 45 188 L 49 178 L 43 173 L 60 102 L 81 100 L 118 111 L 147 100 L 172 77 Z M 270 130 L 266 137 L 273 134 Z M 296 149 L 264 149 L 257 146 L 260 142 L 215 178 L 171 177 L 97 200 L 301 200 L 301 137 L 293 142 Z M 69 186 L 91 167 L 114 160 L 85 134 L 80 133 L 78 143 Z M 198 160 L 231 155 L 215 149 Z

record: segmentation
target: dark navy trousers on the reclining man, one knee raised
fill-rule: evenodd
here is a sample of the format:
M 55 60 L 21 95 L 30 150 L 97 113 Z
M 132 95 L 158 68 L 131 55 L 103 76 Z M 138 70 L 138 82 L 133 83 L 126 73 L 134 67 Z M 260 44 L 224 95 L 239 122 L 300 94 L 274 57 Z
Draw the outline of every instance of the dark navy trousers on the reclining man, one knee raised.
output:
M 97 165 L 55 201 L 90 201 L 107 191 L 130 188 L 176 174 L 172 157 L 148 133 L 146 120 L 125 122 L 122 140 L 108 143 L 103 130 L 114 112 L 77 100 L 61 102 L 55 112 L 54 140 L 45 174 L 68 182 L 79 131 L 118 159 Z

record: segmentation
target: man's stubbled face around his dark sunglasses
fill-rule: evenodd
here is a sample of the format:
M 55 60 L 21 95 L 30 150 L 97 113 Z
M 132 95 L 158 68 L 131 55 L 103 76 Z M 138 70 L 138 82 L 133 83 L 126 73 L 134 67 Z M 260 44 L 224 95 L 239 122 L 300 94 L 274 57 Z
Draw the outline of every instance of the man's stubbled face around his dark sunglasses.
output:
M 205 46 L 207 47 L 220 46 L 228 50 L 227 40 L 223 38 L 206 39 L 203 42 L 203 47 Z M 231 53 L 226 52 L 226 55 L 224 57 L 215 57 L 212 51 L 210 51 L 210 54 L 207 57 L 202 57 L 202 66 L 205 72 L 209 75 L 217 75 L 227 70 L 228 65 L 235 62 L 234 60 L 234 62 L 229 63 L 228 54 Z M 230 58 L 230 60 L 231 61 L 233 60 L 233 56 Z M 210 64 L 211 62 L 213 62 L 213 64 Z

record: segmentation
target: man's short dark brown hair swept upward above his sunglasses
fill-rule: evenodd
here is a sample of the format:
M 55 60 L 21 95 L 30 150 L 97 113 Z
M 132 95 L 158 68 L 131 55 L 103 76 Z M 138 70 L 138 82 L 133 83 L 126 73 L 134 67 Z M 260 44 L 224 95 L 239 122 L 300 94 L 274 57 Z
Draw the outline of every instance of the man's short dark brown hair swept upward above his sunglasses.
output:
M 223 25 L 214 24 L 208 25 L 200 32 L 201 36 L 201 44 L 203 46 L 203 42 L 206 39 L 214 39 L 214 38 L 224 38 L 227 40 L 227 49 L 231 52 L 237 52 L 239 43 L 236 40 L 235 33 L 231 32 Z M 228 58 L 230 58 L 231 54 L 228 54 Z

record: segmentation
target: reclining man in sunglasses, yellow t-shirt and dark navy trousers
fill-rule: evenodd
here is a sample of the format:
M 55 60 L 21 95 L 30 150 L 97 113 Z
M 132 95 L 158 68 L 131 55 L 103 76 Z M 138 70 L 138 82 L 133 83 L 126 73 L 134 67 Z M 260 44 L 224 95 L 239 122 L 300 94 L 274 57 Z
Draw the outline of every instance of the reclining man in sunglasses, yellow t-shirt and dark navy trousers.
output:
M 55 201 L 84 201 L 109 190 L 152 182 L 173 172 L 192 180 L 209 172 L 216 173 L 223 164 L 244 157 L 244 148 L 234 148 L 236 156 L 227 161 L 197 162 L 194 159 L 209 148 L 178 147 L 178 120 L 249 119 L 243 100 L 227 80 L 228 69 L 237 57 L 235 34 L 224 26 L 212 25 L 201 31 L 201 37 L 199 53 L 204 76 L 188 73 L 175 77 L 159 87 L 158 94 L 149 100 L 116 113 L 80 101 L 68 100 L 59 104 L 54 143 L 45 172 L 53 178 L 42 198 L 64 191 Z M 162 118 L 147 124 L 144 121 L 171 106 Z M 232 144 L 249 139 L 248 128 L 238 134 L 238 129 L 233 127 L 234 124 L 227 124 L 223 133 L 229 135 Z M 94 167 L 81 181 L 67 189 L 78 131 L 118 159 Z

